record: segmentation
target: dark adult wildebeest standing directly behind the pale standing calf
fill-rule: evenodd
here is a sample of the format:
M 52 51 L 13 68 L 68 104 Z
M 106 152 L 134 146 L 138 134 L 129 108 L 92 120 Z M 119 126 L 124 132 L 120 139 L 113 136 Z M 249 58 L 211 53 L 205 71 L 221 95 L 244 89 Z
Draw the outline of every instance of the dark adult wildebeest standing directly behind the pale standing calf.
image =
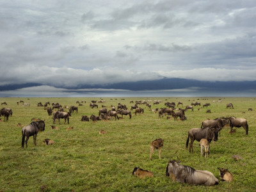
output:
M 189 138 L 190 138 L 190 143 L 189 143 L 189 152 L 194 152 L 193 150 L 193 142 L 200 141 L 202 139 L 207 139 L 208 143 L 211 143 L 212 138 L 214 138 L 214 141 L 218 141 L 218 131 L 220 128 L 192 128 L 188 131 L 188 139 L 186 142 L 186 148 L 188 148 L 188 143 L 189 143 Z

